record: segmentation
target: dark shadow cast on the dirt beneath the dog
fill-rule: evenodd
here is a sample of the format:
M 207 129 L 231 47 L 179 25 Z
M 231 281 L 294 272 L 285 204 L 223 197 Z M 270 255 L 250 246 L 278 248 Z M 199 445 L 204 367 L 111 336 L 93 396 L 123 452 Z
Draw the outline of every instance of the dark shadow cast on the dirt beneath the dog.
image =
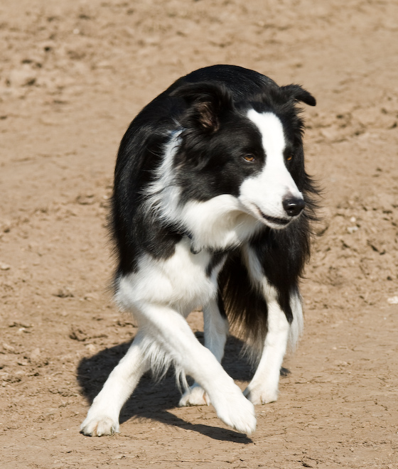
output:
M 196 336 L 200 342 L 203 342 L 203 333 L 196 333 Z M 129 345 L 130 342 L 116 345 L 80 361 L 77 367 L 77 380 L 82 394 L 90 401 L 90 404 L 102 388 L 109 373 L 126 354 Z M 242 354 L 242 347 L 242 341 L 230 336 L 225 345 L 225 358 L 222 360 L 222 366 L 233 379 L 249 381 L 252 377 L 252 366 Z M 160 382 L 156 382 L 150 373 L 144 374 L 132 397 L 122 409 L 120 423 L 132 417 L 146 418 L 197 431 L 217 440 L 237 443 L 252 442 L 242 433 L 204 424 L 190 424 L 168 412 L 168 409 L 178 406 L 180 397 L 181 393 L 178 390 L 173 370 L 169 370 Z

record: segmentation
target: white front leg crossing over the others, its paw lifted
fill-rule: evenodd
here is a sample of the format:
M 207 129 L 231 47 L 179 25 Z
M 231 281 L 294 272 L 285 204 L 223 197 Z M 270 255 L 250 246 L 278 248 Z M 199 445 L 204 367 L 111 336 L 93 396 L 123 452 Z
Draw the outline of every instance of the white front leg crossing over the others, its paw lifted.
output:
M 137 308 L 138 309 L 138 308 Z M 186 320 L 168 306 L 139 306 L 146 330 L 163 347 L 176 367 L 181 367 L 205 390 L 217 416 L 237 431 L 250 434 L 256 427 L 254 406 L 242 394 L 208 348 L 195 338 Z

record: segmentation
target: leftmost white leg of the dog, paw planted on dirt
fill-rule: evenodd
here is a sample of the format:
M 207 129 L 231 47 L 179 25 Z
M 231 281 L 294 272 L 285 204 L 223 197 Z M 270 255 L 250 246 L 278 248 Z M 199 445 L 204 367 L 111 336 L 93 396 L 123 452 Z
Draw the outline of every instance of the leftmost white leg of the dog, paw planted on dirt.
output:
M 127 354 L 114 368 L 101 392 L 95 397 L 80 432 L 88 436 L 112 435 L 119 432 L 119 414 L 134 391 L 142 374 L 149 370 L 144 350 L 145 334 L 141 330 Z

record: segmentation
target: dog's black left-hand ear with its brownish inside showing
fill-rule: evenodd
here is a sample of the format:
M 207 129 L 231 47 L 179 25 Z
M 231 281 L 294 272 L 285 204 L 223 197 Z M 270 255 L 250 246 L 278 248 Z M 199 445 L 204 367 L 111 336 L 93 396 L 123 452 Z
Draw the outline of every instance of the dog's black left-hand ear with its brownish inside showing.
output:
M 171 92 L 171 96 L 181 97 L 188 104 L 181 124 L 197 126 L 208 134 L 220 129 L 221 114 L 233 109 L 230 92 L 213 82 L 183 85 Z

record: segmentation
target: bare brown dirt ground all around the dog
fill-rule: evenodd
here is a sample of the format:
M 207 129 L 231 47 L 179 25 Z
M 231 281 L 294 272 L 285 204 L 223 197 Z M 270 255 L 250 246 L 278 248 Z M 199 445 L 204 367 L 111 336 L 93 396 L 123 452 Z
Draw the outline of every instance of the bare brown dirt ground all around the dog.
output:
M 0 44 L 1 468 L 398 468 L 397 1 L 2 0 Z M 107 291 L 117 146 L 149 99 L 215 63 L 318 99 L 305 333 L 251 438 L 178 408 L 172 374 L 144 377 L 119 435 L 82 436 L 136 332 Z M 240 346 L 225 367 L 243 389 Z

